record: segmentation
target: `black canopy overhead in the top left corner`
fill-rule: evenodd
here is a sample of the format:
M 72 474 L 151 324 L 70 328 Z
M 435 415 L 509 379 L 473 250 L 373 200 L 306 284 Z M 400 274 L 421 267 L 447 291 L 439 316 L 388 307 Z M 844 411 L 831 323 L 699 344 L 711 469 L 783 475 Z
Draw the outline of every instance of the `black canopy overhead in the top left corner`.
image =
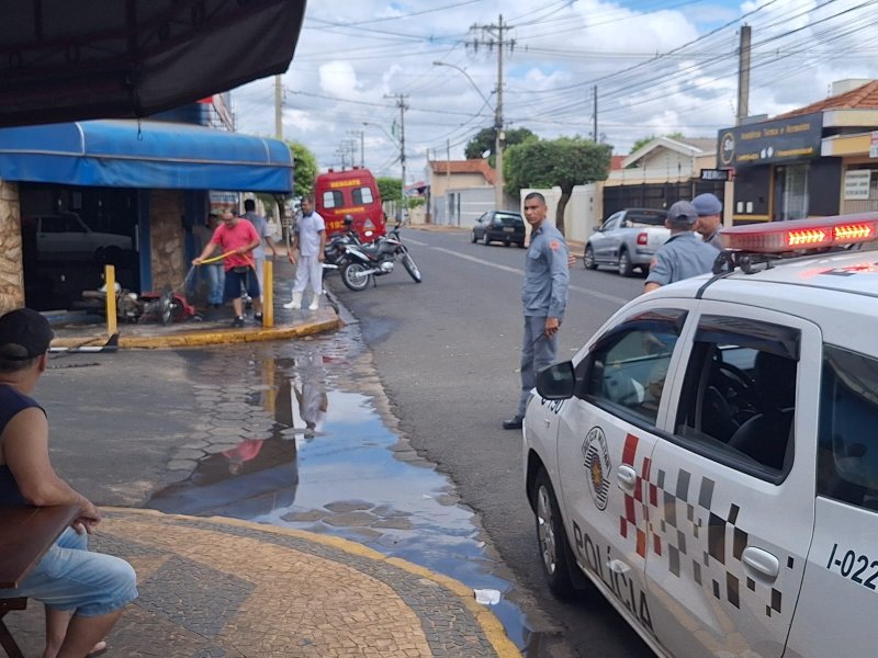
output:
M 136 117 L 282 73 L 305 0 L 0 0 L 0 125 Z

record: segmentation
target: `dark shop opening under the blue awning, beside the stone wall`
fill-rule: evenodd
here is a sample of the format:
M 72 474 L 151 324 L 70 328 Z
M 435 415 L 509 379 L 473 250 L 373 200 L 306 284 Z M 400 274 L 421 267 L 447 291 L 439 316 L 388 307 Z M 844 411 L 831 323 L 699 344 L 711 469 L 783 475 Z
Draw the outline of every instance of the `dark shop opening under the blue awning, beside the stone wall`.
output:
M 86 307 L 82 291 L 103 285 L 108 263 L 122 287 L 139 291 L 135 190 L 21 183 L 19 198 L 29 307 Z

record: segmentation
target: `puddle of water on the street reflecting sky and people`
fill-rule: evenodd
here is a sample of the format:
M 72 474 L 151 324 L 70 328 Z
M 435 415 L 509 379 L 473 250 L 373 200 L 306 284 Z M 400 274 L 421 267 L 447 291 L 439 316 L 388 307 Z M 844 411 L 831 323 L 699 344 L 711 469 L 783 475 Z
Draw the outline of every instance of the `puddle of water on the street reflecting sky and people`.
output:
M 148 507 L 337 535 L 497 590 L 492 611 L 526 650 L 527 620 L 507 600 L 510 583 L 495 575 L 502 565 L 486 554 L 472 511 L 389 428 L 395 420 L 380 413 L 386 402 L 371 364 L 346 341 L 342 333 L 227 351 L 217 355 L 223 366 L 206 359 L 209 377 L 216 367 L 247 376 L 198 389 L 206 427 L 172 462 L 181 473 L 188 465 L 188 476 Z M 246 365 L 236 370 L 229 359 Z

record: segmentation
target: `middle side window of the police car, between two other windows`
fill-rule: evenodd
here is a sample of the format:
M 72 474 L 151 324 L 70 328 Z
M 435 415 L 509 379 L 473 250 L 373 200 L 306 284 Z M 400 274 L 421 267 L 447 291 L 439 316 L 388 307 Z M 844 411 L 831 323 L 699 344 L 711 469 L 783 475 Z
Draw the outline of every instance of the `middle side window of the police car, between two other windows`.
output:
M 701 454 L 773 481 L 792 458 L 798 330 L 705 316 L 686 366 L 675 434 Z

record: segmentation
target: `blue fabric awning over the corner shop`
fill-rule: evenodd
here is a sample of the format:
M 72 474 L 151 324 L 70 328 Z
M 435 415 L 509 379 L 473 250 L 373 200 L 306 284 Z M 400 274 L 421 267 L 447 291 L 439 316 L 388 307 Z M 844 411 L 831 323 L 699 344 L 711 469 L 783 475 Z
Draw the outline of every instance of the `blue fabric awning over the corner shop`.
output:
M 179 123 L 83 121 L 0 129 L 0 179 L 290 193 L 293 159 L 279 139 Z

